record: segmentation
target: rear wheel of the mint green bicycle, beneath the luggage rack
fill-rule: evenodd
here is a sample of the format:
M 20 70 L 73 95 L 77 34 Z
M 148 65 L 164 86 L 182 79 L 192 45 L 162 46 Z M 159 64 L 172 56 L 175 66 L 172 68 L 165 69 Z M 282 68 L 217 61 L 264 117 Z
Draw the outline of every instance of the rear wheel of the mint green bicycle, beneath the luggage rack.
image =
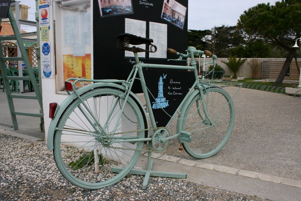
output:
M 53 153 L 59 171 L 70 183 L 84 189 L 107 187 L 123 179 L 137 162 L 143 142 L 120 140 L 144 138 L 146 118 L 131 97 L 121 111 L 123 93 L 95 88 L 83 93 L 82 101 L 74 99 L 61 115 L 54 133 Z M 101 131 L 95 118 L 108 135 Z M 115 125 L 117 130 L 111 135 Z

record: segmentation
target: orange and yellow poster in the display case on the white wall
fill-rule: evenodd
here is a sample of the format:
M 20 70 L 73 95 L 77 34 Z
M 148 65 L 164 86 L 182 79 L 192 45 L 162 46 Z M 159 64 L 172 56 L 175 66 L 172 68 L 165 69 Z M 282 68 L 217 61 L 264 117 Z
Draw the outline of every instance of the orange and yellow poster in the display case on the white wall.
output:
M 63 55 L 64 80 L 68 78 L 91 79 L 91 54 L 85 56 Z M 78 83 L 86 85 L 88 83 Z

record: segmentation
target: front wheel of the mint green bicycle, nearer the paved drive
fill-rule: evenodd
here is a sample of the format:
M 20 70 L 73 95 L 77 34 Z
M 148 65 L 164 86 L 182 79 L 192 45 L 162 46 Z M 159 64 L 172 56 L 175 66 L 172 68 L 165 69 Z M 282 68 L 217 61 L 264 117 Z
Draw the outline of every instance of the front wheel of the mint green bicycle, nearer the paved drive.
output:
M 234 125 L 234 105 L 225 90 L 210 87 L 198 93 L 185 110 L 182 130 L 191 133 L 192 141 L 182 143 L 185 151 L 194 158 L 204 159 L 219 152 L 229 139 Z M 203 108 L 202 101 L 206 107 Z M 213 122 L 206 118 L 205 112 Z

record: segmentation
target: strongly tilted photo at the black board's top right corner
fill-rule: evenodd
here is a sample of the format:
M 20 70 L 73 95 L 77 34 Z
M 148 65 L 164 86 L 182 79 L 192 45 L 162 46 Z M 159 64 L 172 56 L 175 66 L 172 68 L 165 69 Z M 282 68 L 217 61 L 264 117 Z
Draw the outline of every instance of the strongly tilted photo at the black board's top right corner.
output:
M 161 18 L 169 23 L 184 28 L 187 8 L 175 0 L 164 0 Z

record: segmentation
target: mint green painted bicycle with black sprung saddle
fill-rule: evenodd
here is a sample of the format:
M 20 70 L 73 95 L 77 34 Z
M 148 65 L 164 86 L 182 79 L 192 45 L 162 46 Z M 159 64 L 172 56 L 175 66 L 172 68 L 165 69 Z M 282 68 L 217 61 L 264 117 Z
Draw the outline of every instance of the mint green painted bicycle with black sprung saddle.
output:
M 167 52 L 178 55 L 177 60 L 180 61 L 191 57 L 192 67 L 141 63 L 138 52 L 156 52 L 157 47 L 152 42 L 152 39 L 120 34 L 118 46 L 121 50 L 132 51 L 136 61 L 127 80 L 70 78 L 65 82 L 69 96 L 60 105 L 50 104 L 52 120 L 48 131 L 48 149 L 53 149 L 56 165 L 70 183 L 84 189 L 115 184 L 132 170 L 141 151 L 161 152 L 173 138 L 182 143 L 189 155 L 204 159 L 219 152 L 230 137 L 234 125 L 232 99 L 217 84 L 199 80 L 194 61 L 194 55 L 205 54 L 213 59 L 208 62 L 214 64 L 216 56 L 209 51 L 189 47 L 187 54 L 172 49 Z M 145 50 L 130 47 L 129 44 L 150 47 Z M 194 83 L 165 127 L 156 126 L 150 109 L 154 102 L 152 104 L 148 96 L 143 68 L 194 72 Z M 146 109 L 131 91 L 136 79 L 141 82 L 151 125 Z M 76 83 L 81 82 L 93 83 L 77 87 Z M 164 110 L 162 102 L 155 100 L 157 107 Z M 173 135 L 167 129 L 172 119 L 177 119 L 177 132 Z

